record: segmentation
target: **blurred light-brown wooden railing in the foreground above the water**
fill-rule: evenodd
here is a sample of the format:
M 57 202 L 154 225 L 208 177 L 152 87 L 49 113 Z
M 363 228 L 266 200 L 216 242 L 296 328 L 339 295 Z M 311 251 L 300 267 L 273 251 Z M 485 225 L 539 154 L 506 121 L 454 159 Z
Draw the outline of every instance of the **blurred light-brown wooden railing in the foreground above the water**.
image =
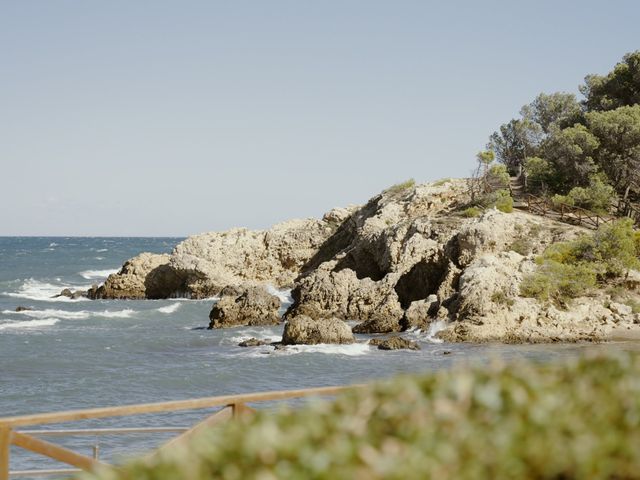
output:
M 176 431 L 180 435 L 161 446 L 156 452 L 173 448 L 178 444 L 188 441 L 199 431 L 210 428 L 220 422 L 248 415 L 254 412 L 248 404 L 260 402 L 272 402 L 310 396 L 334 396 L 345 390 L 357 388 L 360 385 L 343 387 L 320 387 L 304 390 L 284 390 L 273 392 L 248 393 L 243 395 L 226 395 L 218 397 L 196 398 L 189 400 L 177 400 L 171 402 L 145 403 L 137 405 L 123 405 L 116 407 L 101 407 L 84 410 L 71 410 L 66 412 L 40 413 L 33 415 L 21 415 L 0 418 L 0 480 L 8 480 L 12 476 L 34 476 L 50 473 L 72 473 L 76 469 L 91 471 L 99 466 L 107 464 L 98 459 L 96 450 L 93 456 L 82 455 L 55 443 L 42 440 L 45 435 L 81 435 L 81 434 L 115 434 L 115 433 L 150 433 L 158 431 Z M 177 412 L 185 410 L 199 410 L 205 408 L 220 407 L 213 415 L 206 417 L 200 423 L 185 427 L 160 427 L 160 428 L 120 428 L 120 429 L 93 429 L 93 430 L 18 430 L 20 427 L 74 422 L 107 417 L 128 417 L 133 415 Z M 57 460 L 75 469 L 58 470 L 28 470 L 10 471 L 10 449 L 16 446 L 45 457 Z

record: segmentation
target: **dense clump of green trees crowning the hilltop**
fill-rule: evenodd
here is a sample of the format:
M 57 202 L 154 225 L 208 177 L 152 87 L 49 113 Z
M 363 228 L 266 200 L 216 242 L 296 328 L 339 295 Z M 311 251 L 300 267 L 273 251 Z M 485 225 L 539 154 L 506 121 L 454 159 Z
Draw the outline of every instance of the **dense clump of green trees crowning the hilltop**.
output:
M 582 101 L 538 95 L 491 135 L 489 149 L 511 174 L 524 169 L 534 192 L 599 212 L 616 194 L 640 201 L 640 50 L 607 75 L 588 75 L 580 91 Z

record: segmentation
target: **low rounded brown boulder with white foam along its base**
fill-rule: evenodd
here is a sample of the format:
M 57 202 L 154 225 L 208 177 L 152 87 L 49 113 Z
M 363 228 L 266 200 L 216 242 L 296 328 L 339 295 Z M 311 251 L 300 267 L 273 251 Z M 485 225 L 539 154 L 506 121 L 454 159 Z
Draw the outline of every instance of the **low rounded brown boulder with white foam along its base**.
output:
M 287 320 L 282 335 L 283 345 L 316 345 L 318 343 L 354 343 L 349 326 L 337 318 L 312 319 L 301 315 Z

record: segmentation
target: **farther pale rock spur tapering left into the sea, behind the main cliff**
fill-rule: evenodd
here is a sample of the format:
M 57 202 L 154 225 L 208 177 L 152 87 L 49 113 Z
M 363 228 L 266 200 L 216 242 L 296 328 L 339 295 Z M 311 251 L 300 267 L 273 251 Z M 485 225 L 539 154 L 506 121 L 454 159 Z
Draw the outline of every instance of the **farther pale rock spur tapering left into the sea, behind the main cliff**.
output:
M 171 255 L 143 253 L 128 260 L 90 296 L 207 298 L 225 287 L 291 287 L 301 267 L 352 210 L 335 209 L 321 220 L 291 220 L 264 231 L 236 228 L 194 235 Z

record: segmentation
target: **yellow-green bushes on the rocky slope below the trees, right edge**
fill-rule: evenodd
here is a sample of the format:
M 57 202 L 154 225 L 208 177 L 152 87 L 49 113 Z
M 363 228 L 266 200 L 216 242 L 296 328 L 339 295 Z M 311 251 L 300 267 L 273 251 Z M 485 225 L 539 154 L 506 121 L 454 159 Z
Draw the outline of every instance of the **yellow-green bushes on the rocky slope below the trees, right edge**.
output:
M 598 282 L 640 267 L 640 242 L 630 219 L 603 225 L 593 235 L 551 245 L 536 259 L 538 270 L 524 278 L 520 294 L 558 303 L 588 293 Z

